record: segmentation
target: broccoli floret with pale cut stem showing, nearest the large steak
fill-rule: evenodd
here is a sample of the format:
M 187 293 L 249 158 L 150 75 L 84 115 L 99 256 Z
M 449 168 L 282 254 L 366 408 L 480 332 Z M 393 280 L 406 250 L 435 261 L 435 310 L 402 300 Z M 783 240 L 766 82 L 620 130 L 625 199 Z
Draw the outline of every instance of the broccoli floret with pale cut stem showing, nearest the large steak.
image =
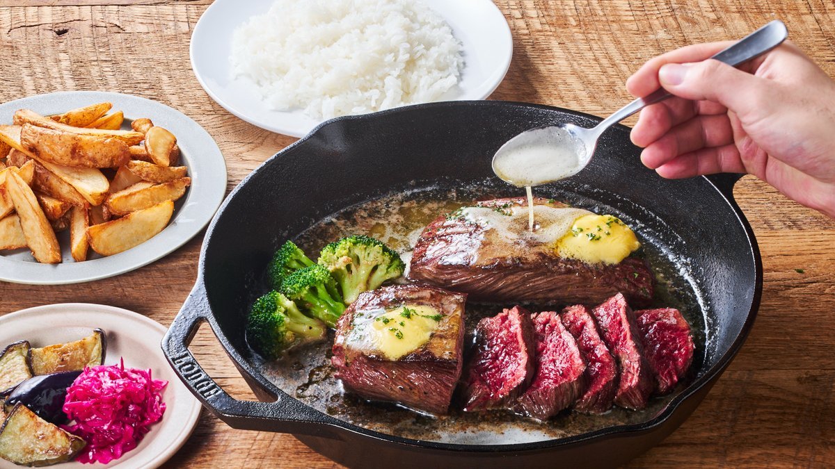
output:
M 326 245 L 319 255 L 319 265 L 331 271 L 347 305 L 363 291 L 374 290 L 406 270 L 397 252 L 365 235 L 348 236 Z

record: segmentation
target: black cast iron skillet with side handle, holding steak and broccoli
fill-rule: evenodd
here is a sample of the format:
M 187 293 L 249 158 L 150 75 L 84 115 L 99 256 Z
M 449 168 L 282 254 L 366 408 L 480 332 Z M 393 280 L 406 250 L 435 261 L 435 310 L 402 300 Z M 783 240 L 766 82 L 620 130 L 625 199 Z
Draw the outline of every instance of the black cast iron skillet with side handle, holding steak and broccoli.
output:
M 739 175 L 665 180 L 645 169 L 629 129 L 604 134 L 590 166 L 567 182 L 640 224 L 686 259 L 706 310 L 706 355 L 686 388 L 637 425 L 535 443 L 463 445 L 369 431 L 306 406 L 256 370 L 244 318 L 256 277 L 276 247 L 339 209 L 394 191 L 491 176 L 490 158 L 525 129 L 600 119 L 559 108 L 497 101 L 432 103 L 334 119 L 269 159 L 230 194 L 210 224 L 198 280 L 163 341 L 171 366 L 215 416 L 234 428 L 294 434 L 347 466 L 616 466 L 654 446 L 690 416 L 741 347 L 762 291 L 757 242 L 733 200 Z M 259 285 L 259 286 L 256 286 Z M 208 322 L 261 402 L 236 401 L 188 350 Z

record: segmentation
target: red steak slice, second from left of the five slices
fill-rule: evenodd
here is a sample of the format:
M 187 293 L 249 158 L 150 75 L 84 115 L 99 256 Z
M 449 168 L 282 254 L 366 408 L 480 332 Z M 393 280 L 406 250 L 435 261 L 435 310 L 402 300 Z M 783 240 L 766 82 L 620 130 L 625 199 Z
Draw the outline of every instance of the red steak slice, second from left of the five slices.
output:
M 531 319 L 536 338 L 536 373 L 514 410 L 547 420 L 583 394 L 585 361 L 557 313 L 545 311 Z

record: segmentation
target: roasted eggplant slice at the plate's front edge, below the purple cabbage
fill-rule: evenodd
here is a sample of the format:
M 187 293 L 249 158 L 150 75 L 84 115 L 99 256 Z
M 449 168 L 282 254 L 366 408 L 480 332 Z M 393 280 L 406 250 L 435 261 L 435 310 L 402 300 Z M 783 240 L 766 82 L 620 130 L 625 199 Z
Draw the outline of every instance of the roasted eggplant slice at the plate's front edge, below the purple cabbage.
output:
M 23 466 L 49 466 L 70 461 L 85 443 L 35 415 L 23 404 L 14 406 L 0 427 L 0 457 Z

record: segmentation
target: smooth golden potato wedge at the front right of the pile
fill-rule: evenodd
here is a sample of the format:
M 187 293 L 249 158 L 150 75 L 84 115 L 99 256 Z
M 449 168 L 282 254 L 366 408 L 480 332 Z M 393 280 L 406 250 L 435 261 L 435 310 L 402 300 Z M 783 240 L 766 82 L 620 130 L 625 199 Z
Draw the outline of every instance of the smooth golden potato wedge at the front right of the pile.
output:
M 168 225 L 172 214 L 174 202 L 166 200 L 120 219 L 94 224 L 87 229 L 90 247 L 100 255 L 114 255 L 129 250 L 159 234 Z

